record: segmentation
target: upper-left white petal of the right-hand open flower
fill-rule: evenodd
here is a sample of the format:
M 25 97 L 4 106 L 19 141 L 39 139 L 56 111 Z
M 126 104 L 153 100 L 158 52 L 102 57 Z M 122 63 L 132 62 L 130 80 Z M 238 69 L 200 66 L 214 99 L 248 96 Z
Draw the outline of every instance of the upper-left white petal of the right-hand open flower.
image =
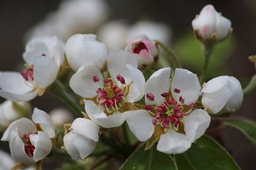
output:
M 149 99 L 145 97 L 147 104 L 159 105 L 164 101 L 161 94 L 168 92 L 170 89 L 170 74 L 171 69 L 166 67 L 164 69 L 157 70 L 151 75 L 151 77 L 149 77 L 145 85 L 145 95 L 148 93 L 153 94 L 154 101 L 149 101 Z

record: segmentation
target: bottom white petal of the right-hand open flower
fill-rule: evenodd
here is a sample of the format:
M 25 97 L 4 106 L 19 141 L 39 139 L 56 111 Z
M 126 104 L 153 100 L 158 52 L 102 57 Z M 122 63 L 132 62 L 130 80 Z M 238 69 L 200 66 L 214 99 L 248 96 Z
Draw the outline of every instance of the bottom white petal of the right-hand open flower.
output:
M 166 154 L 181 154 L 190 147 L 191 141 L 186 135 L 168 130 L 164 135 L 161 135 L 156 149 Z

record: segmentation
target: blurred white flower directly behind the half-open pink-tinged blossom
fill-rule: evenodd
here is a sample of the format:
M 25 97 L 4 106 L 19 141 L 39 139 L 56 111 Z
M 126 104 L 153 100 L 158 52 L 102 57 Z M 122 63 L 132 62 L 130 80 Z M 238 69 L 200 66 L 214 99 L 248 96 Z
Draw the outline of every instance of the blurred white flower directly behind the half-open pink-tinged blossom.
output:
M 127 38 L 131 38 L 138 34 L 145 34 L 150 40 L 159 40 L 164 44 L 169 44 L 171 42 L 171 28 L 165 23 L 138 21 L 129 28 Z

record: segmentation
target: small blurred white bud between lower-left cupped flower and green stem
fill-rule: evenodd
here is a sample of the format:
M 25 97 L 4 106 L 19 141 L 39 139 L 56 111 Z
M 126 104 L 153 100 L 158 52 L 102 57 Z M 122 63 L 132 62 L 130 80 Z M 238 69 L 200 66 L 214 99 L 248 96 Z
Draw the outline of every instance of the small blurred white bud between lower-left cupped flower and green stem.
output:
M 55 108 L 49 112 L 51 120 L 55 127 L 63 127 L 65 123 L 71 123 L 73 121 L 73 114 L 66 108 Z

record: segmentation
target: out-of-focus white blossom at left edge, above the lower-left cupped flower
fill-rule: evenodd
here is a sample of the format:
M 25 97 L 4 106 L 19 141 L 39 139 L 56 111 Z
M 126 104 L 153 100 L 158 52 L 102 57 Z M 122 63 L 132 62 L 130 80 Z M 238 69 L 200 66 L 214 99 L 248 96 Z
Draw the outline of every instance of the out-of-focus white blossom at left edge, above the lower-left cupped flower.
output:
M 21 118 L 23 115 L 29 115 L 31 114 L 30 112 L 30 103 L 4 101 L 4 103 L 1 103 L 0 105 L 0 128 L 6 128 L 14 120 Z

